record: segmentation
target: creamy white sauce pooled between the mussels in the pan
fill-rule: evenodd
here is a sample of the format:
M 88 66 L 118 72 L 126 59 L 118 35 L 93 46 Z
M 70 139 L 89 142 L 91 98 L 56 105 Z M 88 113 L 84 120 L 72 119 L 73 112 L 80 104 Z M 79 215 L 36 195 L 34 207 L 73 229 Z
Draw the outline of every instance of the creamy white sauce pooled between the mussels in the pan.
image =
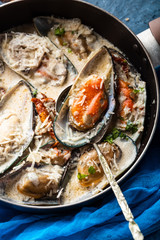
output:
M 70 28 L 71 27 L 70 24 L 71 24 L 71 22 L 69 22 L 69 25 L 67 23 L 66 28 L 67 27 Z M 76 21 L 74 27 L 77 28 L 78 26 L 79 26 L 79 20 Z M 33 28 L 32 25 L 19 26 L 19 27 L 13 29 L 13 31 L 26 32 L 26 33 L 35 33 L 35 29 Z M 90 29 L 88 27 L 86 27 L 84 25 L 81 27 L 81 32 L 87 32 L 88 33 L 88 31 L 90 31 Z M 107 46 L 109 48 L 117 49 L 115 46 L 113 46 L 113 44 L 108 42 L 106 39 L 102 38 L 100 35 L 95 33 L 95 36 L 96 36 L 97 40 L 94 43 L 93 43 L 94 39 L 92 39 L 92 36 L 87 38 L 87 42 L 88 42 L 89 45 L 92 46 L 93 50 L 92 50 L 91 54 L 87 58 L 85 58 L 85 59 L 80 59 L 79 56 L 77 56 L 73 52 L 69 52 L 68 49 L 65 46 L 61 46 L 62 53 L 65 53 L 65 55 L 74 64 L 74 66 L 76 67 L 78 72 L 81 71 L 81 69 L 83 68 L 85 63 L 88 61 L 88 59 L 94 54 L 94 51 L 99 49 L 101 46 L 105 45 L 105 46 Z M 50 37 L 51 38 L 52 37 L 55 38 L 54 35 L 50 36 Z M 76 43 L 78 43 L 78 42 L 76 42 Z M 58 44 L 59 43 L 57 41 L 57 45 Z M 83 49 L 81 49 L 81 51 L 83 51 Z M 64 73 L 63 66 L 58 65 L 58 67 L 55 68 L 55 72 L 57 74 L 60 74 L 60 75 L 63 74 Z M 22 78 L 21 76 L 19 76 L 18 74 L 13 72 L 10 68 L 5 66 L 5 71 L 0 76 L 0 87 L 3 87 L 4 89 L 7 90 L 8 87 L 10 87 L 11 85 L 13 85 L 16 82 L 18 82 L 21 78 Z M 102 76 L 102 78 L 103 78 L 103 76 Z M 34 81 L 33 81 L 33 85 L 34 85 L 34 87 L 36 87 L 38 89 L 39 92 L 42 92 L 45 95 L 47 95 L 47 97 L 51 97 L 51 98 L 56 100 L 57 97 L 59 96 L 59 94 L 62 92 L 63 89 L 65 89 L 67 86 L 73 84 L 73 81 L 74 81 L 73 80 L 73 76 L 69 76 L 67 79 L 68 80 L 64 81 L 62 86 L 54 86 L 54 85 L 52 85 L 50 83 L 50 81 L 47 82 L 47 81 L 45 81 L 46 79 L 45 80 L 40 79 L 39 75 L 37 74 L 35 76 Z M 70 104 L 71 104 L 71 101 L 72 101 L 72 99 L 70 99 Z M 142 101 L 143 101 L 143 99 L 142 99 Z M 142 101 L 141 101 L 141 103 L 142 103 Z M 71 141 L 72 141 L 73 136 L 72 136 L 71 133 L 70 133 L 70 138 L 71 138 Z M 39 146 L 40 143 L 43 145 L 47 141 L 48 141 L 48 138 L 45 138 L 44 136 L 36 136 L 35 137 L 35 146 L 33 147 L 33 149 L 35 150 L 37 145 Z M 37 162 L 41 161 L 41 159 L 43 157 L 44 159 L 46 158 L 47 159 L 47 163 L 50 164 L 49 155 L 53 156 L 55 154 L 52 151 L 49 151 L 48 154 L 45 154 L 45 153 L 43 153 L 43 151 L 41 151 L 41 152 L 40 151 L 39 152 L 34 152 L 34 150 L 31 151 L 31 153 L 30 153 L 30 155 L 28 157 L 28 160 L 31 159 L 31 161 L 33 161 L 33 162 L 34 162 L 34 160 L 32 158 L 33 156 L 34 156 L 34 158 L 37 158 Z M 135 148 L 133 146 L 131 147 L 129 152 L 126 153 L 127 157 L 129 156 L 129 154 L 131 154 L 131 152 L 133 152 L 132 155 L 136 154 L 135 153 Z M 127 165 L 127 163 L 125 165 L 125 162 L 124 162 L 124 161 L 126 161 L 126 155 L 125 155 L 124 158 L 122 158 L 123 159 L 122 163 L 113 162 L 113 166 L 115 167 L 113 169 L 113 172 L 114 172 L 115 176 L 117 176 L 119 173 L 124 171 L 124 169 L 125 169 L 125 167 Z M 117 169 L 119 171 L 117 171 Z M 61 177 L 61 174 L 62 174 L 63 171 L 62 171 L 62 168 L 59 168 L 59 167 L 55 168 L 55 173 L 56 173 L 56 171 L 57 171 L 57 176 L 56 177 L 57 177 L 57 182 L 58 182 L 60 180 L 60 177 Z M 35 185 L 38 185 L 38 178 L 36 177 L 37 175 L 34 174 L 34 173 L 32 174 L 32 172 L 30 172 L 29 174 L 30 174 L 29 175 L 30 181 L 33 182 Z M 93 184 L 92 187 L 85 188 L 85 187 L 80 186 L 79 180 L 77 178 L 77 174 L 78 174 L 78 172 L 77 172 L 77 170 L 75 170 L 73 175 L 72 175 L 71 181 L 68 183 L 68 185 L 67 185 L 67 187 L 65 189 L 65 192 L 64 192 L 64 204 L 67 204 L 67 203 L 70 203 L 70 202 L 79 201 L 81 198 L 83 198 L 83 196 L 87 196 L 87 194 L 88 194 L 89 197 L 91 195 L 93 195 L 93 194 L 97 194 L 98 192 L 102 191 L 102 189 L 108 184 L 108 181 L 107 181 L 106 177 L 104 176 L 102 178 L 100 184 L 98 184 L 96 187 Z M 51 178 L 51 181 L 52 181 L 52 174 L 50 175 L 50 178 Z M 13 199 L 16 199 L 17 201 L 18 200 L 24 200 L 24 199 L 26 200 L 26 199 L 28 199 L 28 197 L 26 197 L 26 196 L 24 197 L 24 196 L 20 195 L 19 193 L 17 194 L 17 189 L 16 189 L 17 181 L 15 181 L 15 184 L 14 184 L 14 186 L 12 188 L 7 186 L 6 192 L 7 192 L 8 196 L 13 198 Z

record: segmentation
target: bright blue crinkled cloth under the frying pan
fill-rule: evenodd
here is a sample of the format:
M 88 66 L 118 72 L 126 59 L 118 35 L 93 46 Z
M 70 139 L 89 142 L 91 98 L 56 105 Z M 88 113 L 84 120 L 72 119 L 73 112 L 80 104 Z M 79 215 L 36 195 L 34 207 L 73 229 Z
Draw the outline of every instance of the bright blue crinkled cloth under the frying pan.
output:
M 157 75 L 160 80 L 160 67 L 157 68 Z M 160 229 L 159 136 L 160 121 L 142 161 L 121 185 L 145 236 Z M 108 199 L 106 195 L 91 206 L 57 215 L 23 213 L 0 205 L 0 239 L 129 240 L 132 236 L 115 197 Z

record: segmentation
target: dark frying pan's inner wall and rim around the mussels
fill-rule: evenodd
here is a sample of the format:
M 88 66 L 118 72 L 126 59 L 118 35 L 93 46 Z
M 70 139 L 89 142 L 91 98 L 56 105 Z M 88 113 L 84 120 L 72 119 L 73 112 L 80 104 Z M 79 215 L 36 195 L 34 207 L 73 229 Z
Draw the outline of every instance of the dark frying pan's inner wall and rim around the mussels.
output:
M 120 20 L 98 7 L 78 0 L 22 0 L 2 5 L 0 7 L 0 32 L 17 25 L 32 22 L 33 17 L 40 15 L 80 18 L 82 23 L 94 28 L 97 33 L 120 48 L 137 68 L 138 72 L 141 73 L 143 81 L 146 81 L 147 107 L 141 147 L 136 161 L 118 180 L 120 182 L 133 171 L 142 159 L 155 131 L 159 109 L 159 93 L 152 62 L 138 38 Z M 109 190 L 110 187 L 88 200 L 67 206 L 24 206 L 8 200 L 1 200 L 1 202 L 20 210 L 45 213 L 57 212 L 89 204 L 97 198 L 104 197 L 104 195 L 106 197 Z

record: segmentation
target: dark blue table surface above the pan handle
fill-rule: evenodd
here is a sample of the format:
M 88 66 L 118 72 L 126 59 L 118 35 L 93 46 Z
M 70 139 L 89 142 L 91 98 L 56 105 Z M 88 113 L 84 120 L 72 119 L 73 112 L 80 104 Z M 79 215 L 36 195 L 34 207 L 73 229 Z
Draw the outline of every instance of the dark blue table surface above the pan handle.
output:
M 86 0 L 118 17 L 135 34 L 148 28 L 148 22 L 160 17 L 160 0 Z M 125 19 L 129 18 L 129 21 Z

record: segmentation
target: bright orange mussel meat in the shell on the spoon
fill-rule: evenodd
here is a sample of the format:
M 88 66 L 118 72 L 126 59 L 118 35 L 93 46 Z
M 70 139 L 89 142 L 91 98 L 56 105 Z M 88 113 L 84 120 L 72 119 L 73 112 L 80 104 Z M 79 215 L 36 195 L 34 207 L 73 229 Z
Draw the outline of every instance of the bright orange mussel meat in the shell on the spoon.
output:
M 81 86 L 72 106 L 71 121 L 78 130 L 92 128 L 108 107 L 103 79 L 92 75 Z

